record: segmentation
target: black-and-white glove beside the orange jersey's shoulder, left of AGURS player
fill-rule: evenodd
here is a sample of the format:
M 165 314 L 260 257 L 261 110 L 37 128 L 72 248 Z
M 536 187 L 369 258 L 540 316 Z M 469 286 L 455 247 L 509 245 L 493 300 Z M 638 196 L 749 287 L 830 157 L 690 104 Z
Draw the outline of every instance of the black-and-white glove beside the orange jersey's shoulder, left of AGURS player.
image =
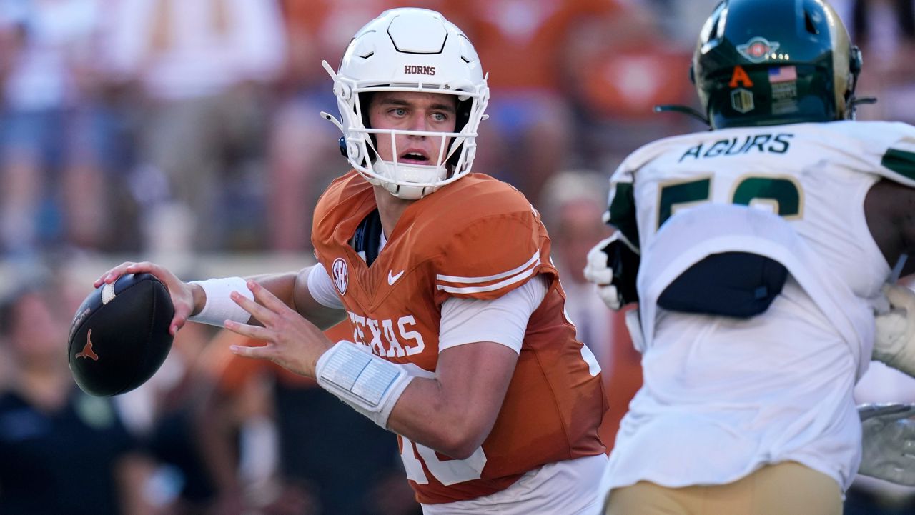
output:
M 587 252 L 585 278 L 596 284 L 597 296 L 610 309 L 636 302 L 635 279 L 639 274 L 639 254 L 629 241 L 616 231 Z

